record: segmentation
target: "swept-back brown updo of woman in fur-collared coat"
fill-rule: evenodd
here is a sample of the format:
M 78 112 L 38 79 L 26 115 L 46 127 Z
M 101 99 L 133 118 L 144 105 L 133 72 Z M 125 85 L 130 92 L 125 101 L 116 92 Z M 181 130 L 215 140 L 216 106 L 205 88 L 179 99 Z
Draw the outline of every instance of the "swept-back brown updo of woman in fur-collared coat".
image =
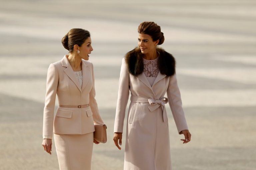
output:
M 164 43 L 164 33 L 161 32 L 161 27 L 154 22 L 143 22 L 138 27 L 139 34 L 147 34 L 153 39 L 153 41 L 157 41 L 158 45 Z

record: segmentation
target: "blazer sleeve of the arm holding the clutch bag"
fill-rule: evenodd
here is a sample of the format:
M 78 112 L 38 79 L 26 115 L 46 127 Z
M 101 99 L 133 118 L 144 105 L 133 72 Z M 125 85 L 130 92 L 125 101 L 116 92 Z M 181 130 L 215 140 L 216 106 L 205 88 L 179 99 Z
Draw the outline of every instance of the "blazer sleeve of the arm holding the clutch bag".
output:
M 104 124 L 101 116 L 99 114 L 98 105 L 95 99 L 96 92 L 95 92 L 95 80 L 94 80 L 94 71 L 93 71 L 93 64 L 92 64 L 92 89 L 89 93 L 89 105 L 92 110 L 93 121 L 95 123 Z

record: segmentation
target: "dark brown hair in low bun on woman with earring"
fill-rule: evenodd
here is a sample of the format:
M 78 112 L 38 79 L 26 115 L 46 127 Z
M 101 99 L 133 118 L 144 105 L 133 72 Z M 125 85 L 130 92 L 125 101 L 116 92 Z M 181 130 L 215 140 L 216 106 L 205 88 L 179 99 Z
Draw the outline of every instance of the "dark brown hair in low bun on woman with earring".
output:
M 81 46 L 88 37 L 91 37 L 89 31 L 81 28 L 73 28 L 62 38 L 61 42 L 64 48 L 72 52 L 74 45 Z

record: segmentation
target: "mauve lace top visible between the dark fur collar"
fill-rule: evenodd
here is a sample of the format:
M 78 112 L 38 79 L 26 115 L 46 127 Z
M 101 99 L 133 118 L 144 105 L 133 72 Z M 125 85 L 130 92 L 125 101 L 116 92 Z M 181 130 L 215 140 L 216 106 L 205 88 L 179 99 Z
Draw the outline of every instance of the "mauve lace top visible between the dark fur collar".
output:
M 144 70 L 143 73 L 147 77 L 149 84 L 152 86 L 158 73 L 159 73 L 159 68 L 157 66 L 158 63 L 158 57 L 154 60 L 146 60 L 143 58 L 143 65 L 144 65 Z

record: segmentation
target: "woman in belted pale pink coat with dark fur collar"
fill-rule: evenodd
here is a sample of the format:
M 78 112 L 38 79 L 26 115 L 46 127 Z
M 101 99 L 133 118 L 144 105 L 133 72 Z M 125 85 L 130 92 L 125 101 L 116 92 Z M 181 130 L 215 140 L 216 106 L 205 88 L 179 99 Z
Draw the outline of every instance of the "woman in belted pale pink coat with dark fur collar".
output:
M 138 27 L 138 47 L 122 60 L 114 125 L 114 143 L 121 149 L 126 105 L 124 170 L 171 170 L 169 103 L 180 139 L 188 143 L 188 130 L 175 73 L 175 59 L 158 45 L 164 42 L 160 26 L 143 22 Z M 164 97 L 167 93 L 167 97 Z

